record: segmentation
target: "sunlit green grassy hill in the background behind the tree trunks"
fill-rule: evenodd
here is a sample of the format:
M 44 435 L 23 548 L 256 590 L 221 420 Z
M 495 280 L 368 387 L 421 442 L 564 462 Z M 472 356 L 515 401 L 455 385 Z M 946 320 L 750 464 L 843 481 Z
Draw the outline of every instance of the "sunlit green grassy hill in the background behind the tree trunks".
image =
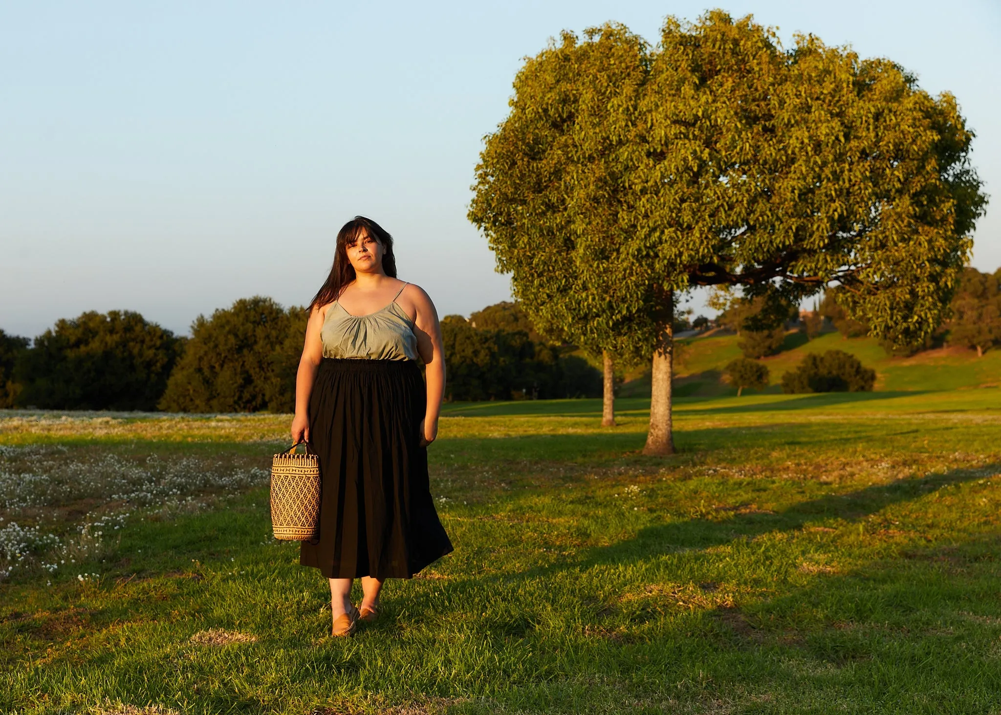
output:
M 741 354 L 737 340 L 735 334 L 720 332 L 679 340 L 676 384 L 679 397 L 736 394 L 737 391 L 722 380 L 722 374 L 727 364 Z M 1001 384 L 1001 350 L 990 350 L 983 358 L 977 358 L 973 350 L 943 347 L 910 358 L 891 358 L 872 337 L 844 338 L 838 332 L 828 332 L 809 340 L 804 333 L 790 332 L 782 351 L 762 361 L 771 373 L 771 387 L 767 392 L 780 392 L 782 376 L 793 370 L 805 354 L 830 349 L 851 352 L 863 365 L 873 368 L 878 376 L 876 390 L 881 392 L 961 390 Z M 649 372 L 635 376 L 623 386 L 623 397 L 649 394 Z

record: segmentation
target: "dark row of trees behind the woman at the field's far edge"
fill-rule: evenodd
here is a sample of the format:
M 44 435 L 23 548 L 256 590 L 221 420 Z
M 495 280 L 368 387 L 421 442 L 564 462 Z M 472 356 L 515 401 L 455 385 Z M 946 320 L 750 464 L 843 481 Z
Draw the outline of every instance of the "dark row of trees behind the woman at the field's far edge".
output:
M 137 312 L 84 312 L 35 339 L 0 330 L 0 408 L 291 412 L 304 308 L 268 297 L 199 315 L 190 337 Z M 449 400 L 601 395 L 571 346 L 545 342 L 518 305 L 442 320 Z

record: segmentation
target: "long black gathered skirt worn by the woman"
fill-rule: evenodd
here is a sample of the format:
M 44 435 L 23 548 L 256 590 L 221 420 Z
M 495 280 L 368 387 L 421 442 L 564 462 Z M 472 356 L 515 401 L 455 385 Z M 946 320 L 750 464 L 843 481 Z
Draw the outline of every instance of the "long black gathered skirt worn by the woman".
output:
M 309 399 L 319 540 L 299 563 L 328 579 L 408 579 L 452 550 L 419 447 L 426 391 L 413 361 L 324 358 Z

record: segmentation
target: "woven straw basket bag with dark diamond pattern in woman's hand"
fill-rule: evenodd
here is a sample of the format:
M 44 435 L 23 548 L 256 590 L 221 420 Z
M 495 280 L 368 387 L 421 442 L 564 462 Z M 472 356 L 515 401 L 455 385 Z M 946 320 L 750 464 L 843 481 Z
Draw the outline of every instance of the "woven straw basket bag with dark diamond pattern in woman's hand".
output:
M 295 448 L 305 445 L 304 455 Z M 271 460 L 274 538 L 312 541 L 319 536 L 319 460 L 309 443 L 296 443 Z

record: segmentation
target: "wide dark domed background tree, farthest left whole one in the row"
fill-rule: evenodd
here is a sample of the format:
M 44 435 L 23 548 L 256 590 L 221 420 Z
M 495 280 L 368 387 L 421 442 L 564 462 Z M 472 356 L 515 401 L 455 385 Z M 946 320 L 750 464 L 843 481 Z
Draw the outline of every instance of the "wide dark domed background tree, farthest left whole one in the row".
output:
M 183 347 L 138 312 L 60 319 L 21 352 L 19 406 L 55 410 L 155 410 Z

